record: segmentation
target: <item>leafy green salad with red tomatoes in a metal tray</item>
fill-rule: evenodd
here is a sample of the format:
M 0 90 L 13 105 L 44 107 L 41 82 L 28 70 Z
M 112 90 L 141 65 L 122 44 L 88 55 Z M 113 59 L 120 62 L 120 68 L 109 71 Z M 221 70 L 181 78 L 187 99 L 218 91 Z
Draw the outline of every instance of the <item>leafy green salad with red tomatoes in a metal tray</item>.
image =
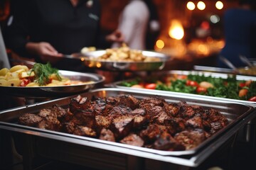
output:
M 229 75 L 227 79 L 197 74 L 171 75 L 164 77 L 164 79 L 143 80 L 137 78 L 132 81 L 122 81 L 118 85 L 256 101 L 256 81 L 237 80 L 235 75 Z

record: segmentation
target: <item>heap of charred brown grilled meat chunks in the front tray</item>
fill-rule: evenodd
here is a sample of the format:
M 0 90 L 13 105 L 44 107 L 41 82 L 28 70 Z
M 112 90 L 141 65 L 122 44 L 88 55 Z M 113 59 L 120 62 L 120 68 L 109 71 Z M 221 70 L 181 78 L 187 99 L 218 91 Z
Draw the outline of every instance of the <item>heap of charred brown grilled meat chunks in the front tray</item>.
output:
M 131 95 L 91 99 L 76 96 L 69 108 L 53 105 L 26 113 L 18 123 L 138 147 L 178 151 L 192 149 L 228 125 L 213 108 L 167 103 L 162 98 Z

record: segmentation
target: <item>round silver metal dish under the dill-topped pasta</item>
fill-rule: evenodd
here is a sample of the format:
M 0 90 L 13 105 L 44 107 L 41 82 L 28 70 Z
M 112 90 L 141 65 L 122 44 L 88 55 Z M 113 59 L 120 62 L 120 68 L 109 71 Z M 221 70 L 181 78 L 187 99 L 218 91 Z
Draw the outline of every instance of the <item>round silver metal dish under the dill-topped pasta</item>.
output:
M 67 77 L 70 80 L 92 82 L 88 84 L 71 86 L 0 86 L 0 93 L 2 95 L 28 98 L 63 97 L 88 91 L 96 84 L 100 84 L 101 82 L 105 81 L 105 77 L 101 76 L 100 74 L 70 72 L 64 70 L 59 70 L 59 73 L 63 75 L 63 77 Z

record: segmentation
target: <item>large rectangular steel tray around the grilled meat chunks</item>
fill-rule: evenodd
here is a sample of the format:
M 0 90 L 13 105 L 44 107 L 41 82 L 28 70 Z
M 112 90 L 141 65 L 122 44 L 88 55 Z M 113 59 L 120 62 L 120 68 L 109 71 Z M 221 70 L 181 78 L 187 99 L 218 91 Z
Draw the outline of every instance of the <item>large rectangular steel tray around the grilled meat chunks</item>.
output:
M 199 96 L 179 96 L 176 94 L 157 94 L 155 91 L 134 91 L 132 89 L 117 89 L 117 88 L 105 88 L 95 89 L 81 96 L 107 97 L 117 96 L 120 94 L 131 94 L 136 98 L 144 98 L 147 96 L 159 96 L 164 98 L 167 102 L 179 102 L 186 101 L 188 104 L 196 104 L 203 106 L 204 108 L 215 108 L 223 113 L 229 120 L 229 124 L 218 131 L 215 135 L 208 138 L 206 141 L 198 145 L 198 147 L 186 151 L 161 151 L 156 149 L 149 149 L 144 147 L 134 147 L 132 145 L 124 145 L 117 142 L 108 142 L 105 140 L 93 139 L 90 137 L 82 137 L 78 135 L 70 135 L 63 132 L 55 132 L 51 130 L 43 130 L 39 128 L 32 128 L 25 125 L 18 125 L 17 118 L 23 113 L 38 113 L 42 108 L 50 108 L 53 104 L 59 104 L 63 108 L 67 108 L 70 103 L 70 97 L 59 98 L 53 101 L 46 101 L 42 103 L 36 103 L 33 105 L 23 106 L 19 108 L 13 108 L 0 113 L 0 128 L 4 130 L 11 130 L 13 132 L 20 132 L 22 134 L 30 135 L 32 137 L 38 137 L 40 139 L 50 139 L 58 142 L 66 142 L 67 144 L 73 144 L 76 147 L 84 146 L 93 149 L 98 149 L 102 152 L 117 152 L 119 154 L 133 155 L 135 157 L 142 157 L 146 159 L 154 159 L 161 162 L 169 162 L 174 164 L 181 164 L 183 166 L 198 166 L 203 160 L 210 156 L 216 149 L 230 139 L 235 133 L 247 123 L 252 117 L 256 115 L 255 109 L 252 106 L 245 103 L 235 103 L 231 101 L 220 101 L 215 99 L 200 98 Z M 41 148 L 41 146 L 38 146 Z M 65 154 L 72 155 L 75 152 L 72 148 L 68 148 L 70 151 Z M 43 149 L 44 150 L 44 149 Z M 43 152 L 47 152 L 44 150 Z M 78 152 L 78 151 L 76 151 Z M 51 151 L 46 153 L 48 157 L 51 155 Z M 79 154 L 79 152 L 78 152 Z M 185 157 L 186 156 L 186 157 Z

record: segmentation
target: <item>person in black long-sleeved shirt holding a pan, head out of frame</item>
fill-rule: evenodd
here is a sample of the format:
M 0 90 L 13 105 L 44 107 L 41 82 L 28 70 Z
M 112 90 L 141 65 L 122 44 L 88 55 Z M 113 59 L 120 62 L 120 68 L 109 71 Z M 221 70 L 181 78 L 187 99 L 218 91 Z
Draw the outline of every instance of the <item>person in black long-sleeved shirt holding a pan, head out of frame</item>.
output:
M 5 30 L 6 47 L 21 57 L 50 62 L 53 67 L 80 71 L 79 60 L 63 60 L 63 54 L 98 47 L 100 1 L 98 0 L 13 0 L 13 13 Z M 107 40 L 122 42 L 114 32 Z

